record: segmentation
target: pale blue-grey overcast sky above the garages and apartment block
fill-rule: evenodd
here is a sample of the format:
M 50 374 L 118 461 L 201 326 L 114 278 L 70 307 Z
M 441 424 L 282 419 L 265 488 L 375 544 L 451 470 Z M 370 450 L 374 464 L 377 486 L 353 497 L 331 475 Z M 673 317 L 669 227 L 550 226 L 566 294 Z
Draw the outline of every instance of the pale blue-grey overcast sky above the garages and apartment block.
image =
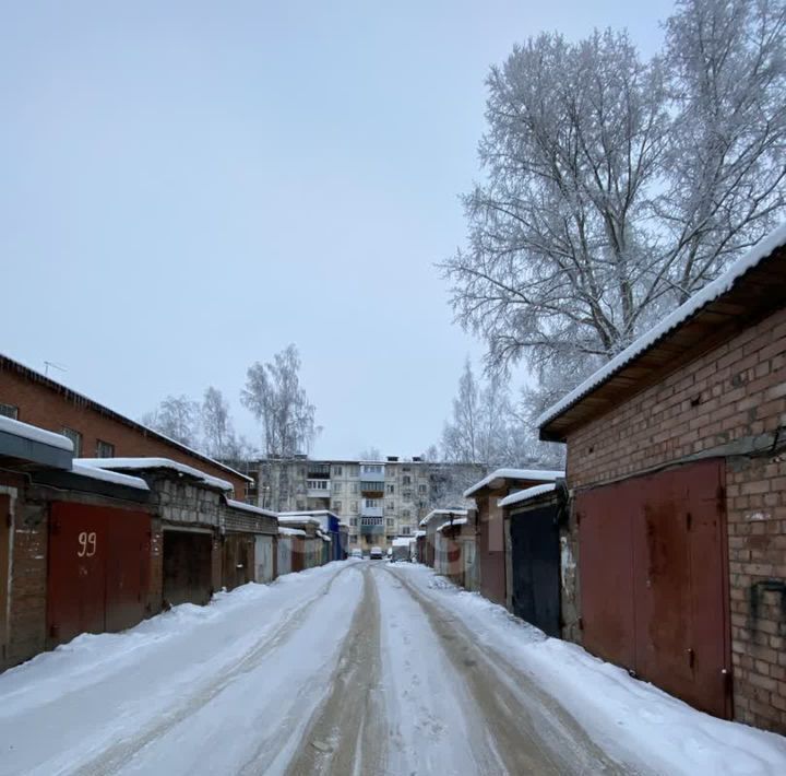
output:
M 132 418 L 289 342 L 315 455 L 417 455 L 466 355 L 433 262 L 462 244 L 484 78 L 515 42 L 670 2 L 5 2 L 0 351 Z

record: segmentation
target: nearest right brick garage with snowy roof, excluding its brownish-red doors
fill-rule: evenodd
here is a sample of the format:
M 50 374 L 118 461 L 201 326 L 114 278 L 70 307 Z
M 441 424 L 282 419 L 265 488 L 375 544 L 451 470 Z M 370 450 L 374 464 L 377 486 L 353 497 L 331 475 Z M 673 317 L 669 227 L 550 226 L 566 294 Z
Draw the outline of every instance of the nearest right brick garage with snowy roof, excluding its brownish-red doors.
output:
M 786 732 L 784 244 L 782 227 L 674 314 L 670 326 L 547 412 L 540 427 L 543 438 L 568 443 L 574 506 L 611 483 L 718 462 L 733 716 L 779 732 Z M 607 514 L 619 517 L 614 503 Z M 571 532 L 583 580 L 580 515 L 574 508 Z M 580 589 L 580 608 L 581 600 Z

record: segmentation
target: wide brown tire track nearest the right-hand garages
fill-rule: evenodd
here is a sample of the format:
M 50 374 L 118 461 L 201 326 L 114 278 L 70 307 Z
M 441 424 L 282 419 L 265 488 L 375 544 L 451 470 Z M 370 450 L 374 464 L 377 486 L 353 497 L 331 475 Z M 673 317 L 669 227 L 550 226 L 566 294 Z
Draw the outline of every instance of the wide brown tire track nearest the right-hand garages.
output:
M 573 717 L 504 656 L 476 645 L 450 611 L 424 596 L 404 575 L 385 567 L 422 610 L 431 630 L 466 683 L 490 742 L 508 773 L 626 774 Z M 489 654 L 491 652 L 491 654 Z

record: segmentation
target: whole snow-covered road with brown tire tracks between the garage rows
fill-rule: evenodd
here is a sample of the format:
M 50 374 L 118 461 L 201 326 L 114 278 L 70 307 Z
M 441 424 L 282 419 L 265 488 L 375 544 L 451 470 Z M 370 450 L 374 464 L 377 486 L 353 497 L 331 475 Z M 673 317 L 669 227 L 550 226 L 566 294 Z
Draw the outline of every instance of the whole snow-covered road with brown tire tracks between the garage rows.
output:
M 422 566 L 247 585 L 0 675 L 0 774 L 784 774 Z

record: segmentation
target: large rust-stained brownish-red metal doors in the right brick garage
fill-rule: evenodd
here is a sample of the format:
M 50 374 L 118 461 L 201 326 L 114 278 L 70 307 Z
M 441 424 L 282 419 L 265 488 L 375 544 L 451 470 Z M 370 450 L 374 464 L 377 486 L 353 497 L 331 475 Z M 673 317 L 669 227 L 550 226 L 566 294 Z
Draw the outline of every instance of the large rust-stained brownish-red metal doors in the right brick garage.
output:
M 730 714 L 724 463 L 580 494 L 584 644 L 719 717 Z

